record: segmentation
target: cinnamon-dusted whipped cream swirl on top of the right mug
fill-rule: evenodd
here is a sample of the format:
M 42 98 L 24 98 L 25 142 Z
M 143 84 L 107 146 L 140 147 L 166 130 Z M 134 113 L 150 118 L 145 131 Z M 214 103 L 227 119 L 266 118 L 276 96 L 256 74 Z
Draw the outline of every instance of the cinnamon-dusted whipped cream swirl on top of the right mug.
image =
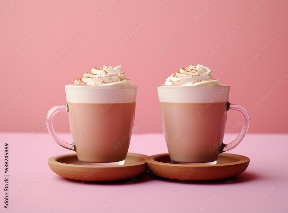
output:
M 189 86 L 189 85 L 217 85 L 219 79 L 212 79 L 211 70 L 203 65 L 190 64 L 186 68 L 173 73 L 166 79 L 165 85 Z

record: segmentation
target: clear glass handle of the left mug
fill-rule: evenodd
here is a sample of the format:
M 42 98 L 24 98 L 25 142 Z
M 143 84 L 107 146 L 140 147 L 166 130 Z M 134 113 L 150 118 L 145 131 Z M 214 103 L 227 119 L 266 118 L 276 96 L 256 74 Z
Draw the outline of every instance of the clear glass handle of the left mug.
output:
M 52 118 L 53 116 L 60 112 L 60 111 L 66 111 L 68 113 L 68 104 L 66 103 L 65 105 L 62 106 L 54 106 L 52 107 L 49 112 L 47 113 L 46 116 L 46 125 L 47 125 L 47 129 L 49 134 L 52 136 L 52 138 L 62 147 L 69 149 L 69 150 L 76 150 L 75 144 L 73 143 L 66 143 L 65 141 L 62 141 L 58 135 L 56 134 L 53 124 L 52 124 Z

